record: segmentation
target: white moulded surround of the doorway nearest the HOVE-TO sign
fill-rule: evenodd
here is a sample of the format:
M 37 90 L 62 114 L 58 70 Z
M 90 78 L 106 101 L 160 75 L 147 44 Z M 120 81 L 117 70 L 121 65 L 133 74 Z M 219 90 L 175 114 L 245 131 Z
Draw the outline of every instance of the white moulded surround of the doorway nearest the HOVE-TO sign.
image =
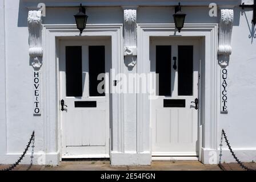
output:
M 122 73 L 123 61 L 123 25 L 122 24 L 87 24 L 82 36 L 75 24 L 43 24 L 43 138 L 44 151 L 47 158 L 61 161 L 61 121 L 59 117 L 59 40 L 60 39 L 82 39 L 83 37 L 111 38 L 112 68 L 115 73 Z M 122 95 L 112 94 L 112 121 L 110 121 L 110 150 L 121 151 L 123 144 L 122 130 Z M 115 137 L 111 138 L 111 135 Z M 50 159 L 47 159 L 50 160 Z

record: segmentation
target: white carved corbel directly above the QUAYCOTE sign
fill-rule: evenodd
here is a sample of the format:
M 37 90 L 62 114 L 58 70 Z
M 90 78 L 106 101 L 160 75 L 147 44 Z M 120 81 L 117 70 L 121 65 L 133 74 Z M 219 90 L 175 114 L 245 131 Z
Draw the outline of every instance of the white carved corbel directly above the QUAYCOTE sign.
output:
M 219 22 L 219 65 L 226 67 L 229 64 L 229 56 L 232 52 L 231 35 L 233 29 L 234 11 L 233 9 L 222 9 L 221 20 Z

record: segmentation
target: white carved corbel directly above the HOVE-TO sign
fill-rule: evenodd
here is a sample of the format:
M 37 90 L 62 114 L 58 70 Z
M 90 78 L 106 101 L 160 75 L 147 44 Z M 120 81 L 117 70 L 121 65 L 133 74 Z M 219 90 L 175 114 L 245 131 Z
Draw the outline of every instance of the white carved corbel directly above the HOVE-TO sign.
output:
M 39 70 L 42 66 L 42 12 L 29 11 L 27 26 L 29 28 L 29 56 L 32 67 Z

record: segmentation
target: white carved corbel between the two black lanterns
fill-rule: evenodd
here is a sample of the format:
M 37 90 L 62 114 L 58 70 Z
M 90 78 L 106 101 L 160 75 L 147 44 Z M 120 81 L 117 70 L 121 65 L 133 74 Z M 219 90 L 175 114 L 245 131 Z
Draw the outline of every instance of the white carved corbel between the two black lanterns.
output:
M 132 69 L 137 64 L 137 10 L 124 9 L 125 64 Z

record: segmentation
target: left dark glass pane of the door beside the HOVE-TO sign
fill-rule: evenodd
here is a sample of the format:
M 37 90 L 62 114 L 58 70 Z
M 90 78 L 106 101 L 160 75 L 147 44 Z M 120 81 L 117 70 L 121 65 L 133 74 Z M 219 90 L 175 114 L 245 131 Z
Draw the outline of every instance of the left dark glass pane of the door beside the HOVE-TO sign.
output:
M 82 47 L 66 47 L 66 96 L 82 97 Z

